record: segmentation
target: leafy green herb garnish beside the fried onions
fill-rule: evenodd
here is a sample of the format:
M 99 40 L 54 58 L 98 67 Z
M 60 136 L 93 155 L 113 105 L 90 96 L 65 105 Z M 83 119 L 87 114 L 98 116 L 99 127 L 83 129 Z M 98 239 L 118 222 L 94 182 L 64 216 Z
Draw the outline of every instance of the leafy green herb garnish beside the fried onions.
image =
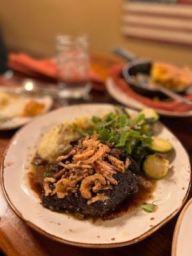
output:
M 131 155 L 136 153 L 136 148 L 146 148 L 152 142 L 147 134 L 142 132 L 146 124 L 145 115 L 140 114 L 135 118 L 129 116 L 125 111 L 111 112 L 100 118 L 93 116 L 93 131 L 99 134 L 99 140 L 114 147 L 121 148 Z

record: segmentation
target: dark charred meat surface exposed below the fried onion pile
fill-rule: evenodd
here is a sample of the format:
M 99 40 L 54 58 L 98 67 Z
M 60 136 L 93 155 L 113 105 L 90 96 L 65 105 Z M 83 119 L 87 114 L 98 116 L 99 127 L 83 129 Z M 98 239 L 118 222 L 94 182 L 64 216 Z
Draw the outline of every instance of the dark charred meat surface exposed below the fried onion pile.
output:
M 72 212 L 85 217 L 104 216 L 108 211 L 113 211 L 117 205 L 138 192 L 135 173 L 138 173 L 138 166 L 132 160 L 124 173 L 115 173 L 113 178 L 118 181 L 118 184 L 113 186 L 113 189 L 99 191 L 100 194 L 109 196 L 108 200 L 99 200 L 87 204 L 86 198 L 81 195 L 80 191 L 77 191 L 77 193 L 69 192 L 64 198 L 43 194 L 42 205 L 51 211 Z M 50 188 L 54 189 L 54 184 L 50 184 Z

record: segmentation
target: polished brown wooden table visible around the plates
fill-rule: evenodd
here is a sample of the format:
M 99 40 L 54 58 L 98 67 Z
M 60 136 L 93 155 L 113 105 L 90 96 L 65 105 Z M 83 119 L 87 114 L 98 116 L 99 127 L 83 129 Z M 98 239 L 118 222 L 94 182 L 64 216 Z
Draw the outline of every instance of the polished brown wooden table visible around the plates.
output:
M 93 55 L 93 68 L 102 77 L 107 76 L 107 70 L 114 63 L 121 60 L 106 56 Z M 90 102 L 117 103 L 107 92 L 92 92 Z M 81 101 L 82 102 L 82 101 Z M 70 104 L 81 103 L 70 101 Z M 189 156 L 192 159 L 192 117 L 191 118 L 161 118 L 173 133 L 183 143 Z M 2 159 L 4 149 L 12 138 L 14 131 L 0 132 L 0 156 Z M 0 184 L 1 185 L 1 184 Z M 191 193 L 190 193 L 191 195 Z M 132 244 L 122 248 L 112 249 L 87 249 L 61 244 L 47 237 L 44 237 L 34 230 L 31 230 L 15 213 L 10 209 L 4 199 L 0 186 L 0 248 L 9 256 L 168 256 L 171 255 L 172 237 L 177 216 L 167 223 L 163 228 L 157 230 L 152 236 L 138 244 Z

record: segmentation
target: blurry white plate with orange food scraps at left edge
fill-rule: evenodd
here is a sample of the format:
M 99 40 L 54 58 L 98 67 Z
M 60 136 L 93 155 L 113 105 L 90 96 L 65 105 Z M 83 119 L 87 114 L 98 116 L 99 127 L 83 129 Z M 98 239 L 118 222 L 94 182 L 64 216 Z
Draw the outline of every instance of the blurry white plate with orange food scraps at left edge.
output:
M 0 122 L 0 131 L 4 130 L 12 130 L 17 129 L 22 125 L 28 124 L 31 120 L 36 118 L 36 116 L 17 116 L 22 113 L 24 106 L 30 102 L 31 100 L 35 100 L 36 102 L 40 102 L 44 104 L 44 110 L 42 114 L 46 113 L 51 109 L 52 106 L 52 98 L 50 96 L 44 97 L 19 97 L 19 99 L 12 102 L 12 104 L 8 104 L 3 109 L 0 110 L 0 116 L 4 118 L 8 118 L 5 122 Z

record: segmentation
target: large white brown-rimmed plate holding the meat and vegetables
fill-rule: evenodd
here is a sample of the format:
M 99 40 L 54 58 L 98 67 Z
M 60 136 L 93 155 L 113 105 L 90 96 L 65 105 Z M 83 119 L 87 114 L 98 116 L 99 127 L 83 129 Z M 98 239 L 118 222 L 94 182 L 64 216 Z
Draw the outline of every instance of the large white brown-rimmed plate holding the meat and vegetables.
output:
M 147 213 L 141 209 L 125 212 L 113 220 L 77 220 L 68 214 L 45 209 L 31 190 L 27 173 L 41 136 L 52 125 L 82 116 L 102 115 L 113 111 L 110 104 L 83 104 L 57 109 L 36 118 L 22 127 L 12 139 L 4 154 L 1 168 L 3 190 L 13 211 L 36 231 L 62 243 L 92 248 L 109 248 L 137 243 L 162 227 L 180 210 L 189 192 L 190 164 L 186 150 L 179 140 L 160 122 L 156 133 L 169 140 L 175 152 L 171 168 L 164 179 L 157 181 L 153 200 L 158 209 Z M 129 112 L 135 113 L 129 109 Z M 150 200 L 149 202 L 152 202 Z

